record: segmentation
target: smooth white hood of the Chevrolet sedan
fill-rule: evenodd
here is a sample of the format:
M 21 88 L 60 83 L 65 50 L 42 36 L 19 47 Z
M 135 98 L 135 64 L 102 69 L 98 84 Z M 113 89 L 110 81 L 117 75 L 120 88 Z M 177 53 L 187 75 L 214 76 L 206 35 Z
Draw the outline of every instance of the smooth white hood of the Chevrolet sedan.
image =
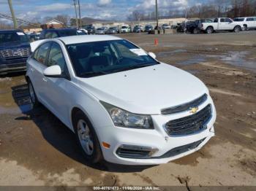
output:
M 160 114 L 161 109 L 187 103 L 208 93 L 200 79 L 165 63 L 78 78 L 78 84 L 100 101 L 137 114 Z

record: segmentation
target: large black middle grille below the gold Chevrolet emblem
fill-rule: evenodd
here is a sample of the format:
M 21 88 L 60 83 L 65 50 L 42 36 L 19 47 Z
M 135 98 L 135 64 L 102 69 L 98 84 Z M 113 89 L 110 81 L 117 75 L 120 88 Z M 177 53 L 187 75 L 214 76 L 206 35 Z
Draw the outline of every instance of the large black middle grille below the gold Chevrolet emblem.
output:
M 178 120 L 171 120 L 165 125 L 169 136 L 183 136 L 197 133 L 206 129 L 206 123 L 211 119 L 211 105 L 209 104 L 197 114 L 183 117 Z

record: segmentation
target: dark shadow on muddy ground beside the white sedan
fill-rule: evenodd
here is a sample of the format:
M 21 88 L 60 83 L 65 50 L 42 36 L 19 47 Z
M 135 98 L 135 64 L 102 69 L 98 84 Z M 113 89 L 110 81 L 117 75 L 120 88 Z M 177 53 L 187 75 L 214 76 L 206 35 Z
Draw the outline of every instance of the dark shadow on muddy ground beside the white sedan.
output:
M 24 114 L 15 120 L 31 120 L 37 125 L 42 133 L 43 138 L 55 149 L 62 152 L 67 157 L 76 160 L 83 165 L 95 168 L 100 171 L 109 172 L 140 172 L 152 165 L 131 166 L 117 165 L 106 161 L 92 165 L 87 163 L 75 139 L 75 134 L 69 130 L 57 117 L 55 117 L 45 106 L 38 106 L 33 109 L 29 97 L 29 90 L 26 84 L 12 87 L 12 97 L 19 106 L 20 111 Z

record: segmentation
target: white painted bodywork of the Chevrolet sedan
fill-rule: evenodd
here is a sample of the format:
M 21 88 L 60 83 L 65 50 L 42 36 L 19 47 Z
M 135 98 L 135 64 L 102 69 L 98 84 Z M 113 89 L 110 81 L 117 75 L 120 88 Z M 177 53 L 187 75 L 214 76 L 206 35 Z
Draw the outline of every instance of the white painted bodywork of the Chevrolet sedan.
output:
M 86 79 L 75 75 L 65 45 L 118 39 L 120 38 L 116 36 L 95 35 L 68 36 L 45 40 L 45 42 L 56 42 L 60 45 L 67 63 L 70 80 L 45 77 L 46 66 L 42 66 L 33 58 L 29 58 L 26 77 L 29 77 L 34 85 L 39 102 L 73 131 L 72 109 L 76 107 L 83 111 L 94 126 L 99 143 L 104 141 L 111 145 L 109 149 L 101 145 L 102 155 L 110 163 L 124 165 L 167 163 L 203 147 L 214 136 L 216 109 L 206 85 L 192 74 L 165 63 L 160 63 L 156 66 Z M 163 115 L 161 109 L 188 103 L 204 93 L 208 95 L 208 98 L 198 106 L 198 111 L 208 104 L 211 104 L 212 110 L 212 117 L 206 124 L 206 130 L 187 136 L 168 136 L 164 128 L 168 121 L 188 117 L 192 113 L 184 111 Z M 116 127 L 110 114 L 100 101 L 105 101 L 135 114 L 150 114 L 154 122 L 154 129 Z M 157 158 L 170 151 L 170 149 L 191 144 L 201 139 L 204 139 L 204 141 L 195 149 L 190 149 L 172 157 Z M 119 157 L 116 150 L 124 144 L 157 148 L 158 150 L 149 159 Z

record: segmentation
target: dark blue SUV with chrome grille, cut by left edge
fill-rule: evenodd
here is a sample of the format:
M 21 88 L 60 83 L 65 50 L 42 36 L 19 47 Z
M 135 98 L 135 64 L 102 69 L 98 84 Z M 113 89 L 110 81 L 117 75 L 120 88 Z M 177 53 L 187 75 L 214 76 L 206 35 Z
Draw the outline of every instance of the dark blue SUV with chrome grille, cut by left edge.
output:
M 29 38 L 23 31 L 0 30 L 0 74 L 25 71 L 29 55 Z

